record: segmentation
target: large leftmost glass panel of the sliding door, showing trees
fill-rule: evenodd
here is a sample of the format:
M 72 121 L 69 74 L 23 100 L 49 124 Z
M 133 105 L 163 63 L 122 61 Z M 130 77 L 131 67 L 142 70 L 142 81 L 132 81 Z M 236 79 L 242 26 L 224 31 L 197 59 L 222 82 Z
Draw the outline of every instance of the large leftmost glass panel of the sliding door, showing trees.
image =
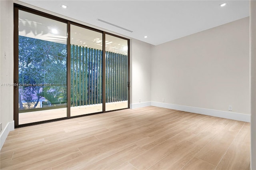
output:
M 18 125 L 66 117 L 67 24 L 18 16 Z

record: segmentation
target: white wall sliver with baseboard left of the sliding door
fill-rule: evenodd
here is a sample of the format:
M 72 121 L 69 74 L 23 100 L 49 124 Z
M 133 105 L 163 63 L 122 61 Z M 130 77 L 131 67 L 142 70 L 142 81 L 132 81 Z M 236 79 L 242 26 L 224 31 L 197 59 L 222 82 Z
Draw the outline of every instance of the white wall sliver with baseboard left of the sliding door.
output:
M 13 122 L 13 4 L 10 1 L 0 1 L 0 148 L 10 130 L 14 129 Z

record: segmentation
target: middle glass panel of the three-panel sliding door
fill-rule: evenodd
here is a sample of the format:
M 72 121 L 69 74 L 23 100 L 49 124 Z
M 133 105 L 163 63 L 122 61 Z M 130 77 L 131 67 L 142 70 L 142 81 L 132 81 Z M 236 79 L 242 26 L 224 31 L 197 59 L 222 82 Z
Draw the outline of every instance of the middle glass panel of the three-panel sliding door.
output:
M 102 112 L 102 33 L 70 25 L 70 116 Z

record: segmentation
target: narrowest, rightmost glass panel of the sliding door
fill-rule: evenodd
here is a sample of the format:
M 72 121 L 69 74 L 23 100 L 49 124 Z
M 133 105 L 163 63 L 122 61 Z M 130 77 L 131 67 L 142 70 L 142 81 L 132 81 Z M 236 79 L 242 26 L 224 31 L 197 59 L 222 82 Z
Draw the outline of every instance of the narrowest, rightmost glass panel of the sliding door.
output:
M 128 40 L 106 34 L 106 111 L 128 108 Z

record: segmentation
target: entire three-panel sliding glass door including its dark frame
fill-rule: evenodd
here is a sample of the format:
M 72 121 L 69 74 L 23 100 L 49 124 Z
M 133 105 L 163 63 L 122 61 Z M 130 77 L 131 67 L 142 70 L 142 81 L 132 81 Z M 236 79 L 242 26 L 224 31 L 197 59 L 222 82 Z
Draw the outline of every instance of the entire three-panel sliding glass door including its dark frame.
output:
M 14 5 L 14 124 L 129 108 L 129 40 Z

